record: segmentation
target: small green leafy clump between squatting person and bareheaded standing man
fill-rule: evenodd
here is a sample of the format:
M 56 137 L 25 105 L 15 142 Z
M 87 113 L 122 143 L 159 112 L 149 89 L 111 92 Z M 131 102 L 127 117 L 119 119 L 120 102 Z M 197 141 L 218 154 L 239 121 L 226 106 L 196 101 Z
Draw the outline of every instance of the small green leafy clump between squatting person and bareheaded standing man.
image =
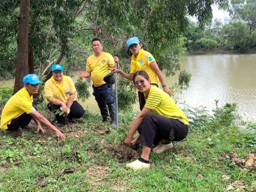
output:
M 77 99 L 84 102 L 90 97 L 90 92 L 88 91 L 89 86 L 91 86 L 90 78 L 86 78 L 85 81 L 79 79 L 77 80 L 77 82 L 75 83 Z

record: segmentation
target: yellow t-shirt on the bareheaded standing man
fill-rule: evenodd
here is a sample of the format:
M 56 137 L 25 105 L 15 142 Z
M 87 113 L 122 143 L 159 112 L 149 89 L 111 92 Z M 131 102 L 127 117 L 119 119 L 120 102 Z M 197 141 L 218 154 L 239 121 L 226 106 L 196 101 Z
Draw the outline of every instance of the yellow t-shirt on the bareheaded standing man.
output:
M 95 87 L 106 84 L 103 78 L 110 73 L 108 68 L 115 67 L 111 54 L 102 52 L 100 56 L 91 55 L 86 61 L 86 71 L 91 72 L 92 83 Z

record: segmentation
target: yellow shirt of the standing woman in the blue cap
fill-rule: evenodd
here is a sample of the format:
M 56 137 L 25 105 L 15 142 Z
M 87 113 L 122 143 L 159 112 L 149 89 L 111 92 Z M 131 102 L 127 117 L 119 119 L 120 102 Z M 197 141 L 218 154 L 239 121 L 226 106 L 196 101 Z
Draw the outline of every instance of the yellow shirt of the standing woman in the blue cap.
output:
M 140 51 L 142 51 L 142 50 L 140 50 Z M 149 66 L 149 64 L 154 61 L 156 61 L 156 60 L 153 57 L 153 55 L 151 55 L 151 53 L 149 53 L 147 51 L 144 51 L 144 53 L 142 54 L 141 59 L 139 61 L 140 69 L 138 69 L 135 62 L 131 62 L 130 73 L 134 74 L 138 70 L 145 70 L 149 76 L 150 83 L 154 83 L 154 84 L 158 85 L 158 83 L 159 83 L 158 77 L 157 77 L 155 71 Z

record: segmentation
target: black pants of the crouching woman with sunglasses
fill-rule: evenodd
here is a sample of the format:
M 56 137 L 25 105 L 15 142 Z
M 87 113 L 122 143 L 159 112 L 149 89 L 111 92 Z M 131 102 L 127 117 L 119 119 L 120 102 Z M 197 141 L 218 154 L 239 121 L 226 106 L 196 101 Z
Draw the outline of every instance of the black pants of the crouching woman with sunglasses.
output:
M 150 113 L 145 116 L 138 128 L 140 143 L 152 148 L 165 139 L 167 141 L 181 141 L 187 137 L 188 125 L 177 119 Z

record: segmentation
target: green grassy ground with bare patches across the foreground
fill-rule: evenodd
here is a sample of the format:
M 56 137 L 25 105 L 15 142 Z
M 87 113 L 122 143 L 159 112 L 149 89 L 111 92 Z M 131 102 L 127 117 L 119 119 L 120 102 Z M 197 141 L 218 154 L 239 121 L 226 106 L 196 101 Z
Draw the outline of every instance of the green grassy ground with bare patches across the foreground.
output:
M 39 110 L 53 118 L 45 107 Z M 125 169 L 140 152 L 121 145 L 124 135 L 117 135 L 124 133 L 87 111 L 76 123 L 59 127 L 67 134 L 60 142 L 50 131 L 29 129 L 18 139 L 0 132 L 0 191 L 226 191 L 232 183 L 234 190 L 256 191 L 255 167 L 230 156 L 256 153 L 254 140 L 247 143 L 250 135 L 217 120 L 204 130 L 191 124 L 186 141 L 161 155 L 152 153 L 150 169 L 139 171 Z

